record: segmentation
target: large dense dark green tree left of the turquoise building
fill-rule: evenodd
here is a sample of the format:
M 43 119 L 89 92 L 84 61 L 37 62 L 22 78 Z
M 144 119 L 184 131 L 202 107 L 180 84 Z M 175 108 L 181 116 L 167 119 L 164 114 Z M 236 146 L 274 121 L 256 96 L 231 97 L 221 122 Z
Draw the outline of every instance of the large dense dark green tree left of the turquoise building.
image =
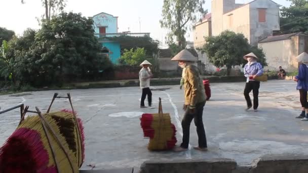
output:
M 81 14 L 61 13 L 32 34 L 12 40 L 18 77 L 23 82 L 61 85 L 66 80 L 97 75 L 111 66 L 99 55 L 101 45 L 94 36 L 93 20 Z

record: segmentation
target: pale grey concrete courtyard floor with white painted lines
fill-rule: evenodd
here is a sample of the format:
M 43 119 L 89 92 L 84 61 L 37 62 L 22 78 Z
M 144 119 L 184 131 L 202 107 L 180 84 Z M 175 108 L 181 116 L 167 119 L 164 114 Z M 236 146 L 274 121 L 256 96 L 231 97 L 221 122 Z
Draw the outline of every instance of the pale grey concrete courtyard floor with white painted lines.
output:
M 304 155 L 308 153 L 308 122 L 294 118 L 300 113 L 296 82 L 270 80 L 262 82 L 259 111 L 245 111 L 245 82 L 211 83 L 212 97 L 205 105 L 203 120 L 208 152 L 150 152 L 140 127 L 142 113 L 157 109 L 140 109 L 138 87 L 88 90 L 29 92 L 0 96 L 1 110 L 23 102 L 34 110 L 46 111 L 54 93 L 70 93 L 74 109 L 83 119 L 86 135 L 86 159 L 82 169 L 140 167 L 150 159 L 230 158 L 248 165 L 260 156 Z M 152 88 L 153 105 L 163 101 L 164 113 L 170 113 L 181 142 L 183 91 L 179 85 Z M 251 93 L 252 97 L 252 93 Z M 56 100 L 52 110 L 69 108 L 68 100 Z M 0 115 L 0 145 L 13 133 L 19 122 L 19 110 Z M 190 128 L 190 146 L 198 144 L 194 123 Z

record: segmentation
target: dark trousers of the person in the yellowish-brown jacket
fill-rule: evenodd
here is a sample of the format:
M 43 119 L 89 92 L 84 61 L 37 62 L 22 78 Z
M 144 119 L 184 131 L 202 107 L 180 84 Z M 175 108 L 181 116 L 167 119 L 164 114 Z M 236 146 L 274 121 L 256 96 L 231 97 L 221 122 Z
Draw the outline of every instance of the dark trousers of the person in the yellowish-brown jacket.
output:
M 189 144 L 189 128 L 190 122 L 194 119 L 195 125 L 197 127 L 197 134 L 198 134 L 198 143 L 200 148 L 207 147 L 206 136 L 204 125 L 202 121 L 202 114 L 203 114 L 203 107 L 205 102 L 198 103 L 196 105 L 196 111 L 194 114 L 189 113 L 189 108 L 186 109 L 184 117 L 182 119 L 182 128 L 183 128 L 183 139 L 182 139 L 182 148 L 188 148 Z

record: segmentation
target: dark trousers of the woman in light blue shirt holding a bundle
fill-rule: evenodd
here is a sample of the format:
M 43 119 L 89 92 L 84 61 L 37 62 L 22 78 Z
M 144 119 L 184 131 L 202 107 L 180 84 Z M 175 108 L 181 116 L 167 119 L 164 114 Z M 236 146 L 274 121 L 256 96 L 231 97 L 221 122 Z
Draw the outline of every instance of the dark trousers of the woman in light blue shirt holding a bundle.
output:
M 251 81 L 246 82 L 244 96 L 247 102 L 247 106 L 252 106 L 251 99 L 249 97 L 249 93 L 252 90 L 253 93 L 253 109 L 257 109 L 259 106 L 258 95 L 259 95 L 260 82 L 259 81 Z

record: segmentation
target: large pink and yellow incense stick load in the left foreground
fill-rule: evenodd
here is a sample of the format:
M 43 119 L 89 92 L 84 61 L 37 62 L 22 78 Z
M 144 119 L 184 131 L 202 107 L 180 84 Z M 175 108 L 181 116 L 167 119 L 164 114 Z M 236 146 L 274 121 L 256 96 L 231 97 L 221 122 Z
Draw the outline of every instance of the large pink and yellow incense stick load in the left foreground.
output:
M 0 172 L 79 172 L 84 128 L 72 111 L 27 116 L 0 148 Z

